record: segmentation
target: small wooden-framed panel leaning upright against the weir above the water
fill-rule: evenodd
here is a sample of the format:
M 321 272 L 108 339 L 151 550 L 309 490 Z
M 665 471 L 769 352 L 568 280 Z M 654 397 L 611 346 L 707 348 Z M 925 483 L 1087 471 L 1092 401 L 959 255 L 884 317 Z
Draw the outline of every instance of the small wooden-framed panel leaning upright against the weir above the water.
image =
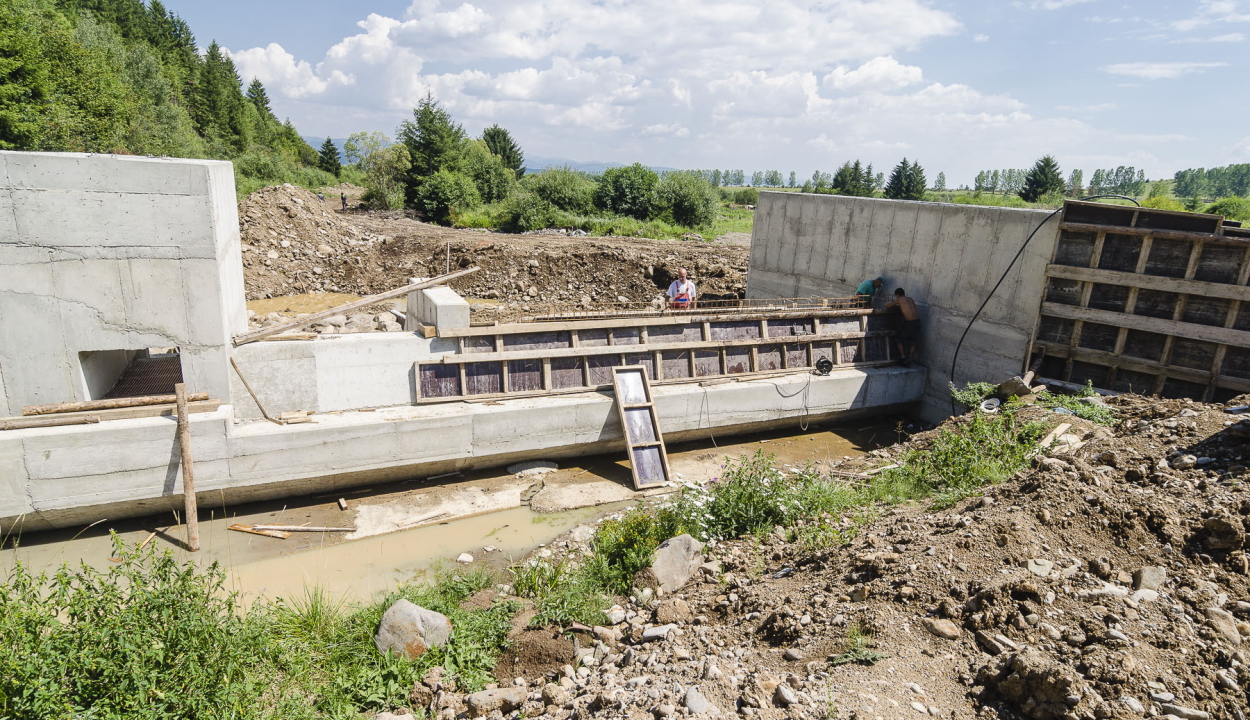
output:
M 612 368 L 616 409 L 625 435 L 626 455 L 634 489 L 642 490 L 669 482 L 669 452 L 664 448 L 660 419 L 651 398 L 646 368 L 625 365 Z

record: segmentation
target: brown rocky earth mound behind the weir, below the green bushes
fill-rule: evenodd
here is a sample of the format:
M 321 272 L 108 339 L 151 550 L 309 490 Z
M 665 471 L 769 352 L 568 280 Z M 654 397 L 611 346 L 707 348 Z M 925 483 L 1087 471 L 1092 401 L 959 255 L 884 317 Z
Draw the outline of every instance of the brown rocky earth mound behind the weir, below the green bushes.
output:
M 430 225 L 402 212 L 340 211 L 338 195 L 291 185 L 239 204 L 248 299 L 304 292 L 370 295 L 410 278 L 478 265 L 451 282 L 480 300 L 520 311 L 650 301 L 688 268 L 706 299 L 741 298 L 749 249 L 701 240 L 586 238 L 559 230 L 512 235 Z

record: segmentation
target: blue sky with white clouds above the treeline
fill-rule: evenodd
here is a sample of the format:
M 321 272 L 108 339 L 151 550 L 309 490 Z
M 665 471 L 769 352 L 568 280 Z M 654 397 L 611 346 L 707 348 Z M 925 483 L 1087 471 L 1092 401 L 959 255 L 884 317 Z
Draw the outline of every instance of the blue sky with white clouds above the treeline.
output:
M 930 178 L 1250 161 L 1250 0 L 169 0 L 305 135 L 432 91 L 531 155 Z

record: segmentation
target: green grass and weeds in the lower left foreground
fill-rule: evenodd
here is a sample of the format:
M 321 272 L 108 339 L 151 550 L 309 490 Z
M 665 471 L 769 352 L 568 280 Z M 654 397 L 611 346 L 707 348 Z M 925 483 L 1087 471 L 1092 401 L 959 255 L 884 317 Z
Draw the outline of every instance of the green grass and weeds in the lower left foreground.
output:
M 116 555 L 105 571 L 18 565 L 0 584 L 0 718 L 356 719 L 406 705 L 435 665 L 469 690 L 494 682 L 519 609 L 461 610 L 494 578 L 449 572 L 368 604 L 310 590 L 244 611 L 216 565 L 120 542 Z M 379 654 L 399 598 L 448 615 L 452 640 L 416 660 Z

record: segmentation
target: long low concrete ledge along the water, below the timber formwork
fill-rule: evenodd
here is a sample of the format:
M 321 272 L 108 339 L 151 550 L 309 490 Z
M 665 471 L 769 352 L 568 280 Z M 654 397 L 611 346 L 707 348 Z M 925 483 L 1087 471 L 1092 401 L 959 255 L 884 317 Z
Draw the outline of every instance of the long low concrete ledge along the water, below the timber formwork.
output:
M 674 442 L 898 411 L 918 401 L 924 386 L 919 368 L 796 372 L 660 386 L 655 402 L 665 439 Z M 235 425 L 232 409 L 222 406 L 191 418 L 196 491 L 201 508 L 220 509 L 222 502 L 621 450 L 614 404 L 609 394 L 582 392 L 350 411 L 286 426 Z M 0 531 L 178 509 L 180 492 L 171 418 L 0 434 Z

